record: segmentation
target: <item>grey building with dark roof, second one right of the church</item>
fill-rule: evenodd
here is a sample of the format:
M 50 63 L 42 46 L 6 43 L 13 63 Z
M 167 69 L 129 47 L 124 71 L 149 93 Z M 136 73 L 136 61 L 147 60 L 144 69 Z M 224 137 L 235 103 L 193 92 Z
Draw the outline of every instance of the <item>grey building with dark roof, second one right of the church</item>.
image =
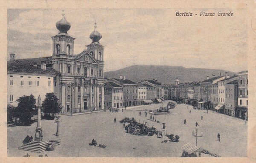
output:
M 123 87 L 123 107 L 137 105 L 138 84 L 120 76 L 119 79 L 110 79 L 110 82 L 122 85 Z

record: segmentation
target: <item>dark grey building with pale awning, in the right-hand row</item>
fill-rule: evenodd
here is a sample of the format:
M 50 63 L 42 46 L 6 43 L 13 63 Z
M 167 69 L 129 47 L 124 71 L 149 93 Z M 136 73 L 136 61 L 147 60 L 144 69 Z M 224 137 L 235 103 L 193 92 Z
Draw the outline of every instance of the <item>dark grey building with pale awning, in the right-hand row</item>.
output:
M 210 108 L 210 93 L 209 88 L 212 84 L 217 83 L 220 80 L 225 79 L 226 77 L 230 76 L 215 76 L 209 79 L 209 76 L 207 76 L 207 79 L 200 82 L 200 88 L 198 89 L 198 107 L 209 109 Z

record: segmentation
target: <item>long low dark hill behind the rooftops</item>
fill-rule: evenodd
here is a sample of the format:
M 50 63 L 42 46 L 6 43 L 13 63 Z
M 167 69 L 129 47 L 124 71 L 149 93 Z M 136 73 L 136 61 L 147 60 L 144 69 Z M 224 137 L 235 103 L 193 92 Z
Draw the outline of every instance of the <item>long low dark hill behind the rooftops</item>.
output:
M 234 72 L 216 69 L 204 69 L 204 68 L 185 68 L 182 66 L 151 66 L 151 65 L 134 65 L 122 68 L 116 71 L 105 72 L 105 77 L 119 78 L 119 76 L 125 76 L 126 79 L 134 82 L 156 79 L 163 84 L 174 84 L 176 77 L 180 82 L 199 82 L 203 81 L 209 76 L 209 78 L 215 76 L 225 75 L 225 72 L 229 76 L 233 76 Z

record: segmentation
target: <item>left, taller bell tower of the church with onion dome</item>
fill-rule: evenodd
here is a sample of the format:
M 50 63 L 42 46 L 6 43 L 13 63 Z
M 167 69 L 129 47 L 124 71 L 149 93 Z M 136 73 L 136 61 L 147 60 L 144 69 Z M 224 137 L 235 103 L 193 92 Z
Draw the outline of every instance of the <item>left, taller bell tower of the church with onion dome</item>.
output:
M 59 33 L 56 36 L 52 37 L 52 55 L 73 55 L 74 54 L 74 40 L 75 38 L 70 37 L 67 34 L 67 31 L 70 30 L 70 23 L 67 22 L 62 14 L 62 19 L 56 22 L 56 28 L 59 30 Z

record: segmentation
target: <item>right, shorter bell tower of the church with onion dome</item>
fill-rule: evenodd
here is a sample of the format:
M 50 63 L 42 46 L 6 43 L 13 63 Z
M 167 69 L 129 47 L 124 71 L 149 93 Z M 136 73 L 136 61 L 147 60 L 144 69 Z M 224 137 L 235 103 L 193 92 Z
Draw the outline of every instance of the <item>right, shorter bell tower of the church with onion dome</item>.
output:
M 92 43 L 90 43 L 90 45 L 86 45 L 87 46 L 87 51 L 89 51 L 90 55 L 100 61 L 103 62 L 103 54 L 104 54 L 104 46 L 102 46 L 99 43 L 99 40 L 102 38 L 102 35 L 96 31 L 97 28 L 97 23 L 95 22 L 94 25 L 94 31 L 90 34 L 90 39 L 92 39 Z

